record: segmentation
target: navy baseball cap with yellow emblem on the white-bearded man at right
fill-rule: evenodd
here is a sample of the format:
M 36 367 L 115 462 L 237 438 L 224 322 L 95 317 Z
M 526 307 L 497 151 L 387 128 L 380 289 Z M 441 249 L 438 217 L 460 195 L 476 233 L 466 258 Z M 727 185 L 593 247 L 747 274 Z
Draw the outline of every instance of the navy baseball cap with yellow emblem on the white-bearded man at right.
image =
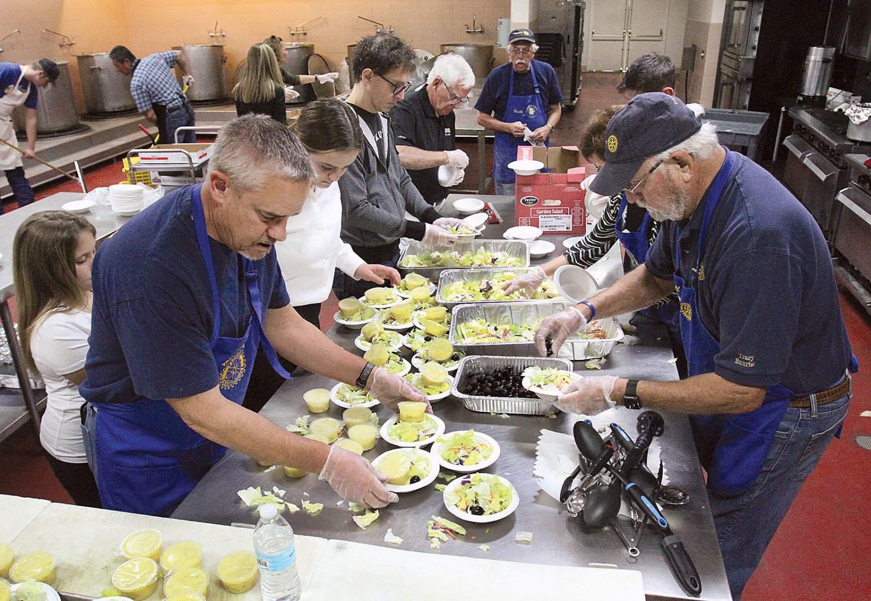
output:
M 618 194 L 648 158 L 692 137 L 701 127 L 701 119 L 679 97 L 663 92 L 638 94 L 608 122 L 605 164 L 590 190 L 608 197 Z

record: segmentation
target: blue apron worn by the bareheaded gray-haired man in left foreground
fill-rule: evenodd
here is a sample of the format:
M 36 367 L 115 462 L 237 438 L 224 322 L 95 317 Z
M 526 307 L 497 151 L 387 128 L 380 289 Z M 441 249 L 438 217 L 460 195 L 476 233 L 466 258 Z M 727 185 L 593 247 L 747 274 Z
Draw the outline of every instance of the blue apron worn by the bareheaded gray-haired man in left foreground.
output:
M 218 366 L 220 393 L 242 404 L 260 343 L 273 369 L 291 378 L 263 332 L 257 271 L 253 261 L 244 257 L 253 313 L 242 337 L 219 336 L 220 297 L 199 190 L 199 186 L 192 190 L 191 213 L 199 253 L 206 262 L 212 286 L 214 327 L 209 346 Z M 225 446 L 193 431 L 163 399 L 99 404 L 95 436 L 103 506 L 147 515 L 169 516 L 226 452 Z

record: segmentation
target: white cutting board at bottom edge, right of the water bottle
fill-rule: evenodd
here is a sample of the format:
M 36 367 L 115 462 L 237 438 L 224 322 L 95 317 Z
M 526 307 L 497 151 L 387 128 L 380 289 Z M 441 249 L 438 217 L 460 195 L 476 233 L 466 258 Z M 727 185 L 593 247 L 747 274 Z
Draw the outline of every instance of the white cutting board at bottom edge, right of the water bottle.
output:
M 645 601 L 645 591 L 641 572 L 634 570 L 522 564 L 331 540 L 302 598 Z

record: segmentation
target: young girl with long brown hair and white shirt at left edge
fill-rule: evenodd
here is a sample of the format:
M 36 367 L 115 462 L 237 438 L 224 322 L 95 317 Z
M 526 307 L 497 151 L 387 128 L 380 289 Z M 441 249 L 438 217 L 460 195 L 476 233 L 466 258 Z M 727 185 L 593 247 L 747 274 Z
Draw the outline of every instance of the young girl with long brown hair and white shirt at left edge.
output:
M 78 384 L 91 334 L 95 234 L 84 217 L 45 210 L 21 224 L 12 250 L 18 337 L 48 395 L 39 439 L 64 489 L 90 507 L 99 507 L 100 498 L 84 454 Z

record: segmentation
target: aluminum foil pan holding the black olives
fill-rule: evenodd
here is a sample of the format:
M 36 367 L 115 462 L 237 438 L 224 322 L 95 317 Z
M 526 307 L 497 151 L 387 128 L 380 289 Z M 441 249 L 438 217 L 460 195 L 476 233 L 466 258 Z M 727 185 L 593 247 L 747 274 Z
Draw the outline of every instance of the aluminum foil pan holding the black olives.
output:
M 571 361 L 543 357 L 463 357 L 457 367 L 454 384 L 450 388 L 453 397 L 459 399 L 466 409 L 471 411 L 496 411 L 496 413 L 513 413 L 517 415 L 553 415 L 557 410 L 553 404 L 537 398 L 516 397 L 476 397 L 460 392 L 466 387 L 469 374 L 481 371 L 495 371 L 510 365 L 518 373 L 524 368 L 537 365 L 542 368 L 555 367 L 557 370 L 572 371 Z

